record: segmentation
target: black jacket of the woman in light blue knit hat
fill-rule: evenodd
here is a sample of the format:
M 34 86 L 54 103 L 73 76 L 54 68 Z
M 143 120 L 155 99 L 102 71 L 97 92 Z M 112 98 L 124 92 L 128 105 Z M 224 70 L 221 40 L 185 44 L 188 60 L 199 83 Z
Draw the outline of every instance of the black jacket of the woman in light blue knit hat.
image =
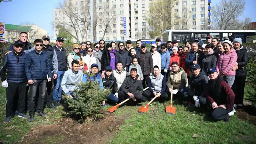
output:
M 236 76 L 246 76 L 246 65 L 248 62 L 248 52 L 245 47 L 241 47 L 239 50 L 236 50 L 238 69 L 236 70 Z

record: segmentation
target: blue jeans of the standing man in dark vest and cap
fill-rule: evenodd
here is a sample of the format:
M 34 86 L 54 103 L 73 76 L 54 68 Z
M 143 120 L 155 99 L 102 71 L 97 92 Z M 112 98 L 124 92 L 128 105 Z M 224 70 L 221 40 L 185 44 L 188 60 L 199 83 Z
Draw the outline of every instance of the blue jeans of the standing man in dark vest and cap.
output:
M 53 87 L 53 101 L 60 101 L 61 100 L 61 93 L 62 93 L 62 88 L 61 88 L 61 81 L 64 76 L 65 71 L 60 71 L 58 70 L 58 77 L 54 81 L 54 87 Z

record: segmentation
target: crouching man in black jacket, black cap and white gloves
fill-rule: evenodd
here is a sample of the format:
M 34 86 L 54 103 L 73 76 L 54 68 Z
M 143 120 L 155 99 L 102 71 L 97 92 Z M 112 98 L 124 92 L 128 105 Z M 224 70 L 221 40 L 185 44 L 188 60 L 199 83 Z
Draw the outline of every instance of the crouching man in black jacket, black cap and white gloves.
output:
M 188 83 L 189 101 L 200 107 L 206 104 L 205 89 L 208 83 L 208 76 L 206 76 L 203 69 L 198 64 L 190 66 L 193 76 Z M 186 94 L 184 94 L 185 96 Z

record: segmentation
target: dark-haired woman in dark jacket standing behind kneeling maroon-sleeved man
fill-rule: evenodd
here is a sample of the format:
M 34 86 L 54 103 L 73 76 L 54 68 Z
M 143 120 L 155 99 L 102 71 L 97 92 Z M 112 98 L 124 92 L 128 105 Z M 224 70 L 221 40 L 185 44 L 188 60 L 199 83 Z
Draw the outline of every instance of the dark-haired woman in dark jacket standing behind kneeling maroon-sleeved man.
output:
M 201 69 L 204 70 L 206 75 L 208 76 L 208 71 L 210 68 L 216 68 L 216 63 L 218 60 L 217 53 L 215 53 L 214 46 L 212 44 L 206 44 L 205 46 L 206 53 L 204 54 L 204 58 L 201 63 Z

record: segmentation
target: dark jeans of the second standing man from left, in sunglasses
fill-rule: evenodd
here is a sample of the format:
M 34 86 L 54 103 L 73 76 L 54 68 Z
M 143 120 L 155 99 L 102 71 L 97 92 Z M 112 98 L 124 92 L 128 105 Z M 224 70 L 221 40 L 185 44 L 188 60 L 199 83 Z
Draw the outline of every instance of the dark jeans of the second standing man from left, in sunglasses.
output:
M 28 98 L 28 111 L 29 115 L 33 115 L 35 108 L 35 99 L 36 99 L 36 92 L 38 90 L 38 101 L 37 107 L 38 112 L 43 112 L 44 107 L 44 96 L 45 96 L 45 87 L 46 87 L 46 79 L 45 80 L 33 80 L 34 84 L 29 85 L 29 98 Z

